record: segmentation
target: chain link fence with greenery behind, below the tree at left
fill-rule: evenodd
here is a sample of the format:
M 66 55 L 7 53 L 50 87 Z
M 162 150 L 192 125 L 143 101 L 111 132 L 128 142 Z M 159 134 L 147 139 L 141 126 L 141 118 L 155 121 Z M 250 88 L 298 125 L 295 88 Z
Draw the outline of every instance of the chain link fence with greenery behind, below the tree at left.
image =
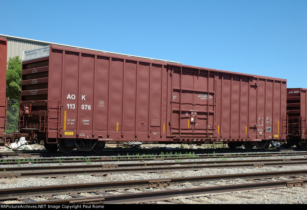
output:
M 6 132 L 18 131 L 19 101 L 8 100 L 6 116 Z

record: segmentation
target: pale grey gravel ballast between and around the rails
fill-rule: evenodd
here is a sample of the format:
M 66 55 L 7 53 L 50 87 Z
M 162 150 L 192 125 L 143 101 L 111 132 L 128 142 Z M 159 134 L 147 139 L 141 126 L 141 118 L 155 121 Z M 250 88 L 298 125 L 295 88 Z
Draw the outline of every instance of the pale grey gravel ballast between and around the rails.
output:
M 257 153 L 253 153 L 255 155 Z M 273 153 L 272 153 L 273 154 Z M 278 153 L 276 153 L 278 154 Z M 97 156 L 99 157 L 99 156 Z M 61 157 L 60 157 L 61 158 Z M 79 158 L 79 157 L 71 157 Z M 293 158 L 293 156 L 279 156 L 279 157 L 266 157 L 266 159 L 287 159 Z M 295 158 L 305 158 L 304 156 L 296 156 Z M 236 160 L 242 158 L 229 158 L 228 160 Z M 250 159 L 261 159 L 261 157 L 244 157 L 243 160 Z M 190 158 L 184 161 L 215 161 L 219 158 Z M 119 163 L 139 163 L 140 161 L 124 161 L 124 162 L 97 162 L 93 164 L 119 164 Z M 157 161 L 145 161 L 147 163 Z M 164 160 L 164 162 L 171 162 L 170 160 Z M 144 163 L 144 162 L 142 162 Z M 1 163 L 0 163 L 1 164 Z M 27 166 L 57 166 L 57 165 L 80 165 L 81 163 L 41 163 L 36 164 L 35 161 L 31 164 L 21 164 L 21 167 Z M 86 163 L 84 163 L 86 164 Z M 0 165 L 4 167 L 17 167 L 17 165 Z M 20 188 L 30 186 L 46 186 L 46 185 L 63 185 L 63 184 L 77 184 L 77 183 L 91 183 L 91 182 L 105 182 L 105 181 L 126 181 L 126 180 L 144 180 L 144 179 L 159 179 L 159 178 L 174 178 L 174 177 L 190 177 L 190 176 L 206 176 L 206 175 L 218 175 L 218 174 L 243 174 L 253 172 L 270 172 L 270 171 L 286 171 L 286 170 L 307 170 L 307 165 L 301 166 L 282 166 L 282 167 L 261 167 L 261 168 L 206 168 L 202 170 L 187 170 L 187 171 L 173 171 L 173 172 L 162 172 L 162 173 L 132 173 L 132 174 L 111 174 L 106 176 L 90 176 L 90 175 L 77 175 L 62 178 L 11 178 L 11 179 L 0 179 L 0 188 Z M 278 180 L 288 180 L 288 178 L 280 177 Z M 271 181 L 274 181 L 271 180 Z M 166 188 L 149 188 L 147 190 L 166 190 L 166 189 L 180 189 L 180 188 L 193 188 L 201 186 L 217 186 L 217 185 L 229 185 L 229 184 L 242 184 L 242 183 L 253 183 L 253 181 L 236 179 L 236 180 L 222 180 L 222 181 L 211 181 L 205 183 L 185 183 L 183 185 L 171 185 Z M 129 193 L 141 192 L 138 189 L 129 189 Z M 120 194 L 122 192 L 110 191 L 111 194 Z M 80 195 L 86 197 L 97 196 L 95 193 L 80 193 Z M 55 195 L 57 199 L 67 199 L 69 195 Z M 33 197 L 33 200 L 40 200 L 45 198 Z M 11 203 L 16 201 L 5 201 L 4 203 Z M 20 203 L 20 202 L 17 202 Z M 292 187 L 272 190 L 253 190 L 249 192 L 234 192 L 222 195 L 210 195 L 206 197 L 189 197 L 189 198 L 175 198 L 173 202 L 157 202 L 158 204 L 166 203 L 178 203 L 178 204 L 307 204 L 307 191 L 305 186 L 303 187 Z

